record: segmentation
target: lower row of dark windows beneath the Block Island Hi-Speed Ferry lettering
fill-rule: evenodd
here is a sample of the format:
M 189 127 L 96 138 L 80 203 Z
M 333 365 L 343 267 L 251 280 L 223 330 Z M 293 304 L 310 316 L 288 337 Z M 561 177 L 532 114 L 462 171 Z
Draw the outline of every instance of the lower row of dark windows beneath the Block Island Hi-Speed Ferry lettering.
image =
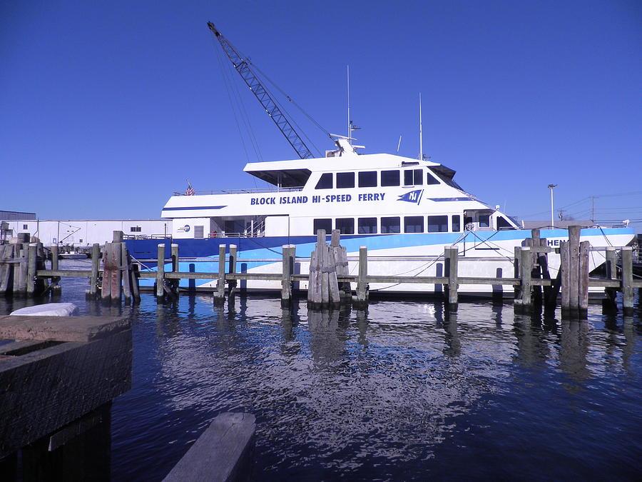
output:
M 332 226 L 333 221 L 334 226 Z M 462 216 L 453 215 L 450 221 L 451 231 L 462 231 Z M 357 234 L 447 233 L 448 216 L 357 218 L 356 228 Z M 332 229 L 339 229 L 341 234 L 355 234 L 355 218 L 315 219 L 313 222 L 313 234 L 317 234 L 320 229 L 325 229 L 326 233 L 330 233 Z

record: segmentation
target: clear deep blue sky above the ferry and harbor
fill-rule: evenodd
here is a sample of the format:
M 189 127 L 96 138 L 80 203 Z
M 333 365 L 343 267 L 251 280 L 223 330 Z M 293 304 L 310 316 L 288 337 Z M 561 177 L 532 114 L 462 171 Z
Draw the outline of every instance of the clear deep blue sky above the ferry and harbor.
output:
M 479 199 L 548 219 L 554 183 L 576 219 L 598 196 L 597 219 L 642 221 L 636 0 L 5 0 L 0 209 L 158 218 L 185 179 L 253 187 L 246 161 L 294 159 L 233 78 L 260 148 L 246 154 L 208 20 L 330 132 L 345 132 L 350 64 L 366 153 L 402 135 L 417 156 L 421 92 L 424 154 Z

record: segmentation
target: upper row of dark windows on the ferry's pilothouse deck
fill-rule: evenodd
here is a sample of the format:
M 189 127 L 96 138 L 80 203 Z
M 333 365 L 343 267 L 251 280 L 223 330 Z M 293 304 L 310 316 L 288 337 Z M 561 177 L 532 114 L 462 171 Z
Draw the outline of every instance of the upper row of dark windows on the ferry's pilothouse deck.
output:
M 360 172 L 326 172 L 321 175 L 315 189 L 348 189 L 357 187 L 401 186 L 403 173 L 404 186 L 423 186 L 424 184 L 439 184 L 439 181 L 424 169 L 393 169 L 391 171 L 360 171 Z M 424 178 L 425 173 L 425 178 Z M 425 182 L 424 182 L 425 181 Z

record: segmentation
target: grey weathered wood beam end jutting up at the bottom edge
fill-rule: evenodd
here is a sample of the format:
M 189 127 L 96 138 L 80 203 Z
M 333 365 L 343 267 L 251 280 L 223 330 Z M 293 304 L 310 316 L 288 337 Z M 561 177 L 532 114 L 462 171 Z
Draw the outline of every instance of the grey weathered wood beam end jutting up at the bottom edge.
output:
M 221 413 L 165 477 L 165 482 L 236 481 L 249 471 L 256 418 Z

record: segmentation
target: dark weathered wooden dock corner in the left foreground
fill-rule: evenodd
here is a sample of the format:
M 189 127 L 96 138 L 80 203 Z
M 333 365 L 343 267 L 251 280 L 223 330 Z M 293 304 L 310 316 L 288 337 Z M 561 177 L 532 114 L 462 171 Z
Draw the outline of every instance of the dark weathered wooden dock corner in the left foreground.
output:
M 65 478 L 104 478 L 111 400 L 131 387 L 128 318 L 1 316 L 0 339 L 15 340 L 0 345 L 4 480 L 15 473 L 53 480 L 60 471 Z M 92 448 L 78 442 L 94 428 L 105 443 Z M 75 453 L 69 450 L 74 443 Z M 78 461 L 78 450 L 100 460 Z

